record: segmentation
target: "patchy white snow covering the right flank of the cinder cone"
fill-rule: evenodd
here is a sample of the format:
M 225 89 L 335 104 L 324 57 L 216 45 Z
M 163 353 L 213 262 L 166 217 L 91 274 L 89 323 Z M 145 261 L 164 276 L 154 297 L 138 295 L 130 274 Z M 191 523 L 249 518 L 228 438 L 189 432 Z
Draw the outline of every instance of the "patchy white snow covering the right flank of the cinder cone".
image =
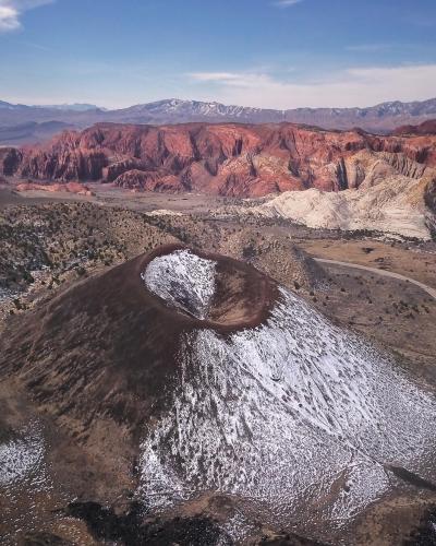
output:
M 202 268 L 195 282 L 209 286 Z M 434 478 L 434 399 L 280 292 L 259 328 L 181 340 L 172 411 L 142 444 L 141 491 L 156 506 L 216 490 L 264 510 L 265 523 L 341 525 L 389 490 L 385 465 Z

